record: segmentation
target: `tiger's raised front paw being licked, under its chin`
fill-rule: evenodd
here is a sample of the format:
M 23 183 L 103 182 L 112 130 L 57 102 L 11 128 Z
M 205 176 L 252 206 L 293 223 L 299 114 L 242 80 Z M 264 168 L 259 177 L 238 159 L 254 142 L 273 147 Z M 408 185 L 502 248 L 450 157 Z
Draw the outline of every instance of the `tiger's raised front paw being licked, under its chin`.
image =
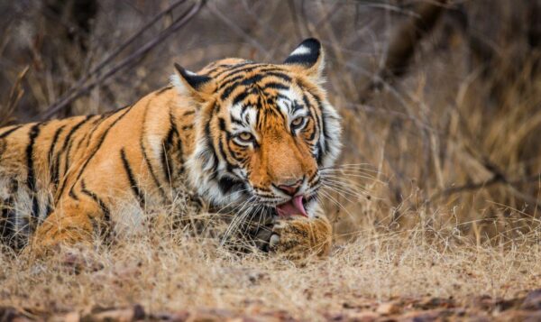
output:
M 330 253 L 333 229 L 325 216 L 279 219 L 272 228 L 269 248 L 292 261 L 325 257 Z

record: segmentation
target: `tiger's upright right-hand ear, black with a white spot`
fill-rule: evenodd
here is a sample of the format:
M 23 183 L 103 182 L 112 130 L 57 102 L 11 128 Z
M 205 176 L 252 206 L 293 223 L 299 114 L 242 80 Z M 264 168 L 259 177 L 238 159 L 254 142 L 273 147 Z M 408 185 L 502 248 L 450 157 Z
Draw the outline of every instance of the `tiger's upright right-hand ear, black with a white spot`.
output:
M 321 42 L 315 38 L 302 41 L 294 51 L 291 51 L 284 64 L 307 75 L 309 78 L 322 77 L 325 67 L 325 55 Z

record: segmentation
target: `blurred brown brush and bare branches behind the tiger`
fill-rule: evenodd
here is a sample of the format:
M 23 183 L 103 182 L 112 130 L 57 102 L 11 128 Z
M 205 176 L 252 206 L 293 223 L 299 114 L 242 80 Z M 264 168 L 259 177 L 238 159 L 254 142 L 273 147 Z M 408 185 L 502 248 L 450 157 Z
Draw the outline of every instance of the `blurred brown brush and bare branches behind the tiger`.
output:
M 539 17 L 538 0 L 4 0 L 0 125 L 102 113 L 167 85 L 174 62 L 281 62 L 317 37 L 340 162 L 366 177 L 345 168 L 327 198 L 338 236 L 505 244 L 541 211 Z

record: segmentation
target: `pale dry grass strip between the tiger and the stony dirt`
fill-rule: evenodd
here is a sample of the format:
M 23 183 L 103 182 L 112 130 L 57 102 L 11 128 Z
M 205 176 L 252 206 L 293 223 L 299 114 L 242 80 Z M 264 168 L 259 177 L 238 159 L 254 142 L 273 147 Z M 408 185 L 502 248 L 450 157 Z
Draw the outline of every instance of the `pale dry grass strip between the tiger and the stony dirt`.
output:
M 97 252 L 71 251 L 87 259 L 84 265 L 67 265 L 66 252 L 40 263 L 5 256 L 0 306 L 47 316 L 139 303 L 152 314 L 284 310 L 290 317 L 323 320 L 399 298 L 467 303 L 480 295 L 509 299 L 538 286 L 541 252 L 531 243 L 538 235 L 493 247 L 468 244 L 458 231 L 367 230 L 338 245 L 329 259 L 305 267 L 261 253 L 235 255 L 215 239 L 170 231 Z

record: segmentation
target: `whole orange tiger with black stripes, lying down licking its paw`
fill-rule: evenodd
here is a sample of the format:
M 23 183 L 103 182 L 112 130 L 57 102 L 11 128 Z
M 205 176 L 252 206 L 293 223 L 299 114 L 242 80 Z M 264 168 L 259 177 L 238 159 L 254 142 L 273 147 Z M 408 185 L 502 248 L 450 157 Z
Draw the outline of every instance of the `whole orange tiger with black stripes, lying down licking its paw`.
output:
M 4 244 L 37 254 L 92 244 L 96 231 L 125 223 L 125 205 L 135 223 L 189 191 L 233 222 L 264 217 L 268 229 L 254 235 L 265 235 L 271 253 L 329 253 L 332 227 L 317 193 L 341 126 L 322 87 L 320 42 L 302 41 L 281 64 L 175 69 L 170 86 L 133 106 L 0 129 Z

